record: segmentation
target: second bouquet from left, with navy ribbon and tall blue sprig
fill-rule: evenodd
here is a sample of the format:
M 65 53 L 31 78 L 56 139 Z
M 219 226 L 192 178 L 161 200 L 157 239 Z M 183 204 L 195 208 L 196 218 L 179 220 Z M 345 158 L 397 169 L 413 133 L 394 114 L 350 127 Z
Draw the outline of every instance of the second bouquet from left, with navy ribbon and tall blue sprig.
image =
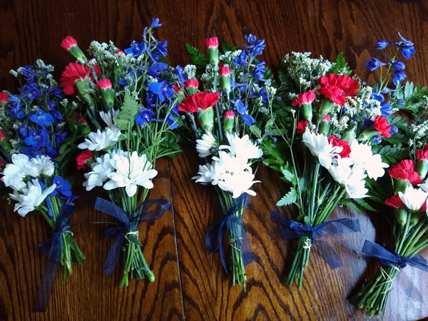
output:
M 111 275 L 124 253 L 121 287 L 128 286 L 130 277 L 155 280 L 141 249 L 138 225 L 168 210 L 166 200 L 148 200 L 148 191 L 158 174 L 156 160 L 180 151 L 180 136 L 173 132 L 181 121 L 174 88 L 183 86 L 185 78 L 183 68 L 163 62 L 167 41 L 153 35 L 159 26 L 153 19 L 144 29 L 143 42 L 133 42 L 124 52 L 112 42 L 93 41 L 91 60 L 70 36 L 62 43 L 77 63 L 63 71 L 60 86 L 76 97 L 93 128 L 78 145 L 83 150 L 76 158 L 78 168 L 88 169 L 83 185 L 86 190 L 102 186 L 111 201 L 97 198 L 95 208 L 121 221 L 104 230 L 105 238 L 116 238 L 104 272 Z M 148 210 L 156 204 L 160 209 Z

